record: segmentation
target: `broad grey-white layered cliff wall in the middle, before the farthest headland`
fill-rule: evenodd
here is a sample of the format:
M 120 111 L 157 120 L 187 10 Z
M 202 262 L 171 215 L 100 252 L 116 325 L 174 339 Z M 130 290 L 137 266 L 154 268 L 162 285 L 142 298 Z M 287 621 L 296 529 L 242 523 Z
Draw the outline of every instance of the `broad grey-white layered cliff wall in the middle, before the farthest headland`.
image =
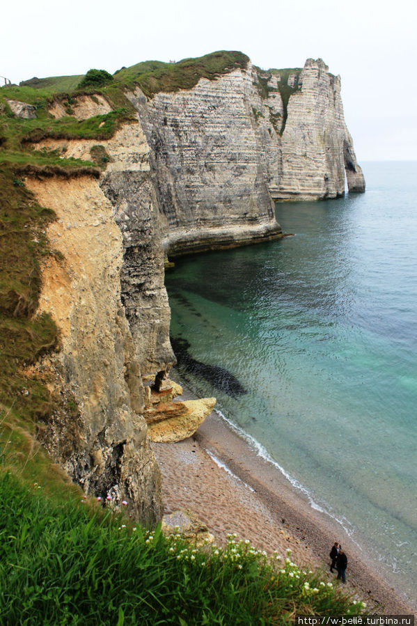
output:
M 235 70 L 150 101 L 139 89 L 129 96 L 152 148 L 171 255 L 281 235 L 262 158 L 267 137 L 251 110 L 255 95 L 252 71 Z

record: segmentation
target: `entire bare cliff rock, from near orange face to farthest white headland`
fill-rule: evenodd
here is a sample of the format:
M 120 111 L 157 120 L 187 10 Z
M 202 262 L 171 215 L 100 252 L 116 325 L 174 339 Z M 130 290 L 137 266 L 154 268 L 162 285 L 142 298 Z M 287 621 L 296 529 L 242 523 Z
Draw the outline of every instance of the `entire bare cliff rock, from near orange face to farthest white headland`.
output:
M 143 419 L 144 373 L 175 361 L 164 253 L 281 237 L 273 198 L 334 198 L 365 184 L 340 100 L 320 59 L 303 70 L 248 61 L 189 89 L 145 97 L 111 139 L 97 180 L 27 178 L 56 212 L 49 240 L 63 259 L 42 268 L 39 311 L 61 330 L 40 368 L 76 409 L 42 430 L 54 458 L 87 493 L 127 499 L 136 517 L 162 514 L 159 469 Z M 77 119 L 111 110 L 102 95 L 74 99 Z M 103 109 L 104 107 L 104 109 Z M 65 108 L 55 106 L 56 117 Z M 96 140 L 41 139 L 36 148 L 90 159 Z

